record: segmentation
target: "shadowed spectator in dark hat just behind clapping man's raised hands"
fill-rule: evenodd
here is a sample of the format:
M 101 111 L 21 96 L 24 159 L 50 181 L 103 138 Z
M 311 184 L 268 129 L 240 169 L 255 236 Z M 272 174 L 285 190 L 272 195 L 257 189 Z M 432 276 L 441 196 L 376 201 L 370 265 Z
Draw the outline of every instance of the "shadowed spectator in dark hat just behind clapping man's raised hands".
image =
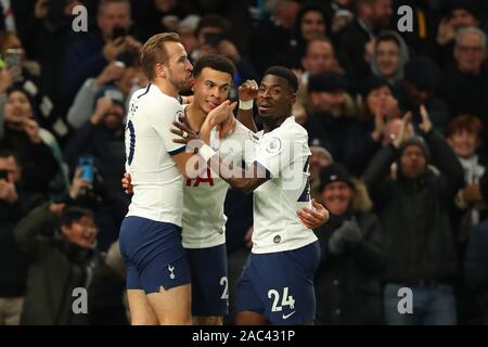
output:
M 419 57 L 404 65 L 403 80 L 396 86 L 400 108 L 413 113 L 413 126 L 419 130 L 420 105 L 425 105 L 434 128 L 445 133 L 449 123 L 449 107 L 437 98 L 442 74 L 429 59 Z

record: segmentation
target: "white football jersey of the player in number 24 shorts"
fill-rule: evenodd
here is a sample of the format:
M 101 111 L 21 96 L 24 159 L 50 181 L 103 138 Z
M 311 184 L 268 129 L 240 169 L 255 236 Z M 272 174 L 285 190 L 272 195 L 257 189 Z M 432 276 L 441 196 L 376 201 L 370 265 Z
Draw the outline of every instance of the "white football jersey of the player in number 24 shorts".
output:
M 297 249 L 317 236 L 296 211 L 311 206 L 308 133 L 288 117 L 277 129 L 258 133 L 254 158 L 271 176 L 254 191 L 253 253 Z

